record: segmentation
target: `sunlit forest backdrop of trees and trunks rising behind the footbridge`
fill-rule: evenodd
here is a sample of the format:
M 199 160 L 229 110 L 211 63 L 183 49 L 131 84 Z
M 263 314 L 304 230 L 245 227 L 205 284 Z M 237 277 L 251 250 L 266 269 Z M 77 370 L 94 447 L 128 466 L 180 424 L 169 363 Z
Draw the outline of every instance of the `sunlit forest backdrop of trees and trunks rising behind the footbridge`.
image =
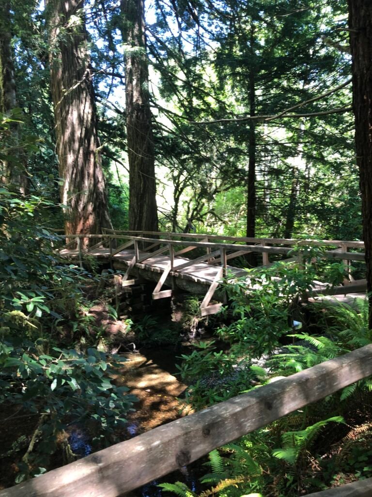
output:
M 54 228 L 361 238 L 346 2 L 7 0 L 0 22 L 3 177 L 50 192 Z

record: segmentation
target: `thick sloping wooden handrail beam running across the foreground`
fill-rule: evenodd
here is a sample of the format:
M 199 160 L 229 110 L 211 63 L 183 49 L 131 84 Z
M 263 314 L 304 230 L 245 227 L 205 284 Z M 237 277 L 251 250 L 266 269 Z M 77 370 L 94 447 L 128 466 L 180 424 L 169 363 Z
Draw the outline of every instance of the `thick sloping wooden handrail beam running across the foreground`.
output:
M 0 497 L 118 497 L 371 374 L 372 345 L 366 345 L 2 490 Z

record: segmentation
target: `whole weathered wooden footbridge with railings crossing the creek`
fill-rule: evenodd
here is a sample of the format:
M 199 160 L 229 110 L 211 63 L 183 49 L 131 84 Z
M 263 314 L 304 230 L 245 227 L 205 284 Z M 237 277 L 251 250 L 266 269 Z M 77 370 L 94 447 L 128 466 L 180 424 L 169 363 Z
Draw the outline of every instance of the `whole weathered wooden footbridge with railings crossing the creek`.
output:
M 97 243 L 84 248 L 90 238 L 98 240 Z M 329 250 L 322 252 L 323 257 L 343 260 L 348 268 L 351 261 L 364 260 L 364 253 L 361 253 L 364 243 L 355 241 L 238 238 L 115 230 L 104 230 L 100 235 L 67 235 L 66 239 L 68 243 L 60 250 L 63 257 L 78 259 L 81 264 L 87 255 L 100 261 L 109 261 L 115 269 L 123 270 L 123 287 L 147 279 L 158 282 L 152 294 L 153 299 L 170 297 L 172 289 L 177 287 L 205 295 L 200 306 L 202 316 L 215 314 L 221 308 L 222 303 L 210 305 L 210 302 L 222 278 L 227 275 L 232 278 L 247 275 L 244 269 L 228 265 L 228 261 L 236 257 L 254 253 L 263 267 L 271 266 L 274 259 L 286 264 L 304 264 L 304 254 L 299 248 L 322 246 L 329 247 Z M 197 256 L 185 257 L 192 250 L 198 252 Z M 163 286 L 168 289 L 163 289 Z M 365 290 L 366 280 L 346 279 L 339 287 L 314 282 L 311 293 L 346 295 Z

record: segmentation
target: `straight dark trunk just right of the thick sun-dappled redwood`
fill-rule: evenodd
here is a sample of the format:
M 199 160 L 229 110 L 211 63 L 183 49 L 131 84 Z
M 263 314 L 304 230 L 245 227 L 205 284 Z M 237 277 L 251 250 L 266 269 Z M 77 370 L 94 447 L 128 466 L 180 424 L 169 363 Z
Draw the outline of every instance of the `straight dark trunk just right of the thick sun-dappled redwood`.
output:
M 157 231 L 154 139 L 151 125 L 143 0 L 122 0 L 125 103 L 129 161 L 129 229 Z

